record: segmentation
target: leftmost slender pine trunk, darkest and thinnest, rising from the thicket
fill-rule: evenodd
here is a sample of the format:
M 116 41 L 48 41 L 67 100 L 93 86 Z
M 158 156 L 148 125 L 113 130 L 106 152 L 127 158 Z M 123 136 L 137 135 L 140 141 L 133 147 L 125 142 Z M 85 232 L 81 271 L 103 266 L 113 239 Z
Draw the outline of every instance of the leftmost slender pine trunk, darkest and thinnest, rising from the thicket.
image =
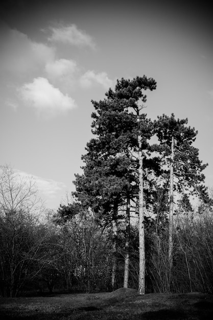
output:
M 113 257 L 112 257 L 112 290 L 115 288 L 115 277 L 117 269 L 117 205 L 114 205 L 112 216 L 112 232 L 113 232 Z

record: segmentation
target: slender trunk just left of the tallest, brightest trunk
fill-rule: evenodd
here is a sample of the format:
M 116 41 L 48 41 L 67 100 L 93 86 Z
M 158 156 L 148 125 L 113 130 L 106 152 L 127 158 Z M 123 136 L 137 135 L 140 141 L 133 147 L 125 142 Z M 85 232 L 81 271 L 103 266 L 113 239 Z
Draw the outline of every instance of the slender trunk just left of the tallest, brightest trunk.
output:
M 125 261 L 124 261 L 124 288 L 128 288 L 129 282 L 129 235 L 130 235 L 130 196 L 129 186 L 127 192 L 127 209 L 126 209 L 126 234 L 125 234 Z

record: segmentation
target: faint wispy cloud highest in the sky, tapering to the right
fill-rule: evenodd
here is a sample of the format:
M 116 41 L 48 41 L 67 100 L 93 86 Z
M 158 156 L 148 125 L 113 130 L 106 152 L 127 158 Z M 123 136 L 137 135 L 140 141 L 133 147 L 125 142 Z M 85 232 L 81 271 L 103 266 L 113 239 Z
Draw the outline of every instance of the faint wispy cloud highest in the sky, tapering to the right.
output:
M 78 29 L 76 25 L 61 26 L 59 28 L 51 27 L 50 29 L 52 31 L 52 35 L 49 37 L 50 41 L 73 44 L 77 47 L 95 48 L 92 37 L 85 31 Z

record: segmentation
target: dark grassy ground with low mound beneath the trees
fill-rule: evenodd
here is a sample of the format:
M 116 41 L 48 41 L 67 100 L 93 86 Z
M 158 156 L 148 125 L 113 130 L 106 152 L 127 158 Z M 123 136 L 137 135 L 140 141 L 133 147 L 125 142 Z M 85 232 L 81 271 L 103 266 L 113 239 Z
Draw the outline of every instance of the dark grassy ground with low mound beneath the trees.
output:
M 0 298 L 1 320 L 206 320 L 213 318 L 213 296 L 204 293 L 137 295 L 134 289 L 110 293 L 52 294 Z

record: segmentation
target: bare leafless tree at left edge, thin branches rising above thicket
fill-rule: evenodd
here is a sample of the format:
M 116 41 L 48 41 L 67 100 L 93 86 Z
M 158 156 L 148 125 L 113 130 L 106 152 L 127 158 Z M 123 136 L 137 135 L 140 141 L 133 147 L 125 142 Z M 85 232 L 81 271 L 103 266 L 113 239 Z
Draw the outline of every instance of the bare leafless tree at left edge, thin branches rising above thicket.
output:
M 39 199 L 35 181 L 10 166 L 0 168 L 1 293 L 18 293 L 35 264 L 42 241 L 35 239 Z

